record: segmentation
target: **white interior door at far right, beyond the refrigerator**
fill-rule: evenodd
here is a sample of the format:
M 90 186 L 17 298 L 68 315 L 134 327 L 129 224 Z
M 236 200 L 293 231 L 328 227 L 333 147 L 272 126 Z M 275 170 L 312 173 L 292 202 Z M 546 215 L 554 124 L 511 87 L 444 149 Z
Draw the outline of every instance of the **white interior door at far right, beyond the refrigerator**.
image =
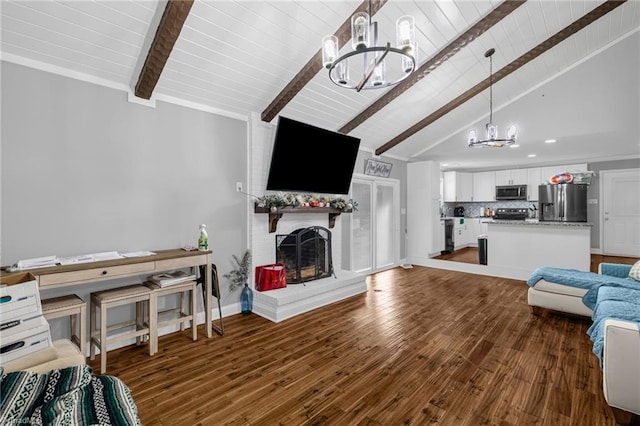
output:
M 640 257 L 640 170 L 600 176 L 603 254 Z

